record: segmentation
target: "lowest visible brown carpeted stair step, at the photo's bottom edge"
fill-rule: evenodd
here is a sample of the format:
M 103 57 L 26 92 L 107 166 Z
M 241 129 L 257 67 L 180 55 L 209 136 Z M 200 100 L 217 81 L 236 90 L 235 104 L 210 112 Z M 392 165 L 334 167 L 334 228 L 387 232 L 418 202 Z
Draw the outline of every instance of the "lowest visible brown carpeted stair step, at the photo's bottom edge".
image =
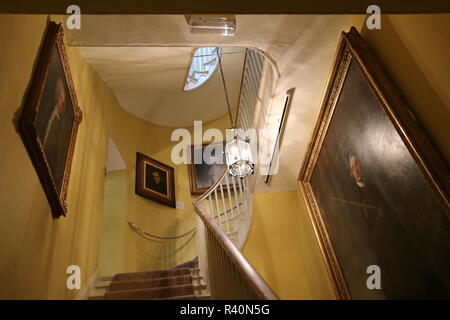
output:
M 194 286 L 192 284 L 184 284 L 161 288 L 107 291 L 105 293 L 105 299 L 149 300 L 149 299 L 162 299 L 162 298 L 183 297 L 193 295 L 195 296 Z

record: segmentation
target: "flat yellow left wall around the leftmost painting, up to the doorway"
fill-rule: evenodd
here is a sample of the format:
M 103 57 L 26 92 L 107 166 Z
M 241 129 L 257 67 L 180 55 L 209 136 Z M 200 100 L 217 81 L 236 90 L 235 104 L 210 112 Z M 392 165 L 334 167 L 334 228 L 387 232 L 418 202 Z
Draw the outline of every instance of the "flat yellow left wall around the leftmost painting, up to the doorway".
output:
M 112 92 L 68 48 L 83 110 L 67 196 L 68 216 L 54 220 L 36 171 L 15 129 L 46 26 L 46 16 L 0 16 L 0 298 L 72 298 L 66 268 L 82 282 L 98 266 L 106 160 L 105 100 Z

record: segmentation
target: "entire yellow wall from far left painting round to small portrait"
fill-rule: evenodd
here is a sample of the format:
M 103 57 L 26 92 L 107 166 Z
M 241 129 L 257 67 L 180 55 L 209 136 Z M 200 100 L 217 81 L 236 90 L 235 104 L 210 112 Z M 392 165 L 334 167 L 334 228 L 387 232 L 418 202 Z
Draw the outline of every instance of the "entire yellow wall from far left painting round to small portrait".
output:
M 116 143 L 126 165 L 125 216 L 144 230 L 162 236 L 194 226 L 186 165 L 175 167 L 176 197 L 184 210 L 135 195 L 136 151 L 171 165 L 172 128 L 150 124 L 125 112 L 113 91 L 76 48 L 67 47 L 83 121 L 76 142 L 67 197 L 68 216 L 54 220 L 30 158 L 15 129 L 30 82 L 47 16 L 1 15 L 0 43 L 0 298 L 70 299 L 66 268 L 81 268 L 82 283 L 99 267 L 104 167 L 107 141 Z M 187 110 L 188 112 L 188 110 Z M 227 118 L 204 127 L 224 129 Z M 192 128 L 189 128 L 192 131 Z M 123 187 L 123 186 L 121 186 Z M 124 200 L 125 201 L 125 200 Z M 106 204 L 108 208 L 111 203 Z M 125 223 L 125 221 L 123 221 Z M 147 241 L 126 226 L 124 248 L 112 266 L 124 271 L 171 267 L 195 257 L 195 240 Z M 120 262 L 120 260 L 123 260 Z M 106 272 L 110 272 L 107 265 Z

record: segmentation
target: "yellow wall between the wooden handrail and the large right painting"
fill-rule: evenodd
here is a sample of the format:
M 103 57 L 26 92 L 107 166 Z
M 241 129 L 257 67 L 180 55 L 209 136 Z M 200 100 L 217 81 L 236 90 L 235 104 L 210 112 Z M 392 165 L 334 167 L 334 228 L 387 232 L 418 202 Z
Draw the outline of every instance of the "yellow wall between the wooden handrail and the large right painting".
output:
M 280 299 L 334 299 L 299 191 L 254 195 L 244 256 Z

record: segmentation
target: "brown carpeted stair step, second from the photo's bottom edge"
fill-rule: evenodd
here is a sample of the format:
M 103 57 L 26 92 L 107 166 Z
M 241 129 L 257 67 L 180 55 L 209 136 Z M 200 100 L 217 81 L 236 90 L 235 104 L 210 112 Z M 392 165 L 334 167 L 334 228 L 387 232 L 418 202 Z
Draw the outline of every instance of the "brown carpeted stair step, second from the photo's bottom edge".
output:
M 165 278 L 127 280 L 127 281 L 111 281 L 109 291 L 117 290 L 133 290 L 133 289 L 149 289 L 157 287 L 170 287 L 182 284 L 192 284 L 192 276 L 174 276 Z

